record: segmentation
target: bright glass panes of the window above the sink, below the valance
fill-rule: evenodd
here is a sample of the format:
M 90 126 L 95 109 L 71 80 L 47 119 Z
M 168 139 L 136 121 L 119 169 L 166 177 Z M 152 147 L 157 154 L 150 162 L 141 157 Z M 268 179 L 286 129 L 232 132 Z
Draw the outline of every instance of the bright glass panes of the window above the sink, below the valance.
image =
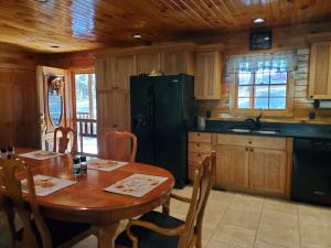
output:
M 287 72 L 258 69 L 237 73 L 237 108 L 285 110 L 287 107 Z

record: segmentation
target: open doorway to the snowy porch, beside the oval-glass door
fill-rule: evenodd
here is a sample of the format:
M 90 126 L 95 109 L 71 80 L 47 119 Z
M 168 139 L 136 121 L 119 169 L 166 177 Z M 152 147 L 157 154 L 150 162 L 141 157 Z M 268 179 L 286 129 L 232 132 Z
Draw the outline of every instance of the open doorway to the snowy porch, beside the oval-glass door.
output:
M 95 73 L 75 72 L 74 85 L 77 152 L 78 154 L 96 157 L 98 149 Z

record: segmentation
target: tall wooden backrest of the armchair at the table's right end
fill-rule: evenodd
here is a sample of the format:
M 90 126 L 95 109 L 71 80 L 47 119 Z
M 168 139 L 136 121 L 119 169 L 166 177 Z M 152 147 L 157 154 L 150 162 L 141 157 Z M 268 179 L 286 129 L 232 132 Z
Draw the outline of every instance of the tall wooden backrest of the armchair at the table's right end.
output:
M 201 231 L 205 206 L 214 182 L 215 151 L 196 164 L 191 204 L 185 219 L 185 231 L 178 247 L 190 247 L 194 234 Z

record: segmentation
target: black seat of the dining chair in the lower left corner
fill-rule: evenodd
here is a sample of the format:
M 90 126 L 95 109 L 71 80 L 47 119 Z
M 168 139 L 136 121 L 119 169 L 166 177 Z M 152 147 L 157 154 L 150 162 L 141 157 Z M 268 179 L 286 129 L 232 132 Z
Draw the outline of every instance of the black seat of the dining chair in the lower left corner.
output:
M 65 244 L 66 241 L 74 238 L 75 236 L 84 231 L 87 231 L 90 227 L 89 224 L 67 223 L 67 222 L 61 222 L 51 218 L 45 218 L 44 220 L 50 229 L 51 237 L 52 237 L 52 245 L 54 248 Z M 42 247 L 41 237 L 34 222 L 32 223 L 32 229 L 35 234 L 35 237 L 38 237 L 39 246 Z M 23 228 L 18 231 L 18 239 L 22 240 L 22 237 L 23 237 Z

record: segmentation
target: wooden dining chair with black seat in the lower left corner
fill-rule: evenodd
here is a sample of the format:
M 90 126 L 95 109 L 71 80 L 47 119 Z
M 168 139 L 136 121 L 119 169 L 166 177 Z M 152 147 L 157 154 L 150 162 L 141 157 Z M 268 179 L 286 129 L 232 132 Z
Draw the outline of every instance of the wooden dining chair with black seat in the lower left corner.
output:
M 90 235 L 88 224 L 67 223 L 44 218 L 34 190 L 34 182 L 26 163 L 20 160 L 0 159 L 1 181 L 4 185 L 0 193 L 0 209 L 10 230 L 9 247 L 13 248 L 55 248 L 72 247 Z M 21 183 L 17 175 L 26 179 Z M 22 188 L 29 194 L 23 195 Z M 15 215 L 22 224 L 19 228 Z

